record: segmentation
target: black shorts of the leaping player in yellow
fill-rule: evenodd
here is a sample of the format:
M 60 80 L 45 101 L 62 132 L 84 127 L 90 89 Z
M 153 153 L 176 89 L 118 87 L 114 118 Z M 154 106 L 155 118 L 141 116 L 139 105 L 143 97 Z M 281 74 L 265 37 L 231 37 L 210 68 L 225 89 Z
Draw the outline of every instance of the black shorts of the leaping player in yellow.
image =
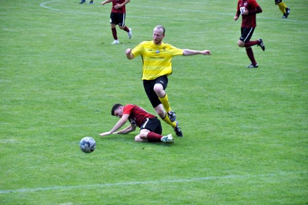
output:
M 158 105 L 162 104 L 156 92 L 154 91 L 155 84 L 161 84 L 165 90 L 168 85 L 167 76 L 163 75 L 153 80 L 143 80 L 143 87 L 144 87 L 145 93 L 148 96 L 153 108 L 156 108 Z

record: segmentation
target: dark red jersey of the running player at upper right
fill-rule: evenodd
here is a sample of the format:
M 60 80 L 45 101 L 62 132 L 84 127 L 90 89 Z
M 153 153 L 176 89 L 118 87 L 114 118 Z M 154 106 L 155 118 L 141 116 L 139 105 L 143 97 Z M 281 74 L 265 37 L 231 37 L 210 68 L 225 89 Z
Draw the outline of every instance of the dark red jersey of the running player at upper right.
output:
M 256 8 L 259 7 L 256 0 L 239 0 L 237 10 L 238 12 L 243 13 L 243 11 L 248 10 L 249 11 L 255 11 Z M 256 13 L 242 15 L 242 26 L 244 28 L 250 28 L 250 27 L 256 27 Z

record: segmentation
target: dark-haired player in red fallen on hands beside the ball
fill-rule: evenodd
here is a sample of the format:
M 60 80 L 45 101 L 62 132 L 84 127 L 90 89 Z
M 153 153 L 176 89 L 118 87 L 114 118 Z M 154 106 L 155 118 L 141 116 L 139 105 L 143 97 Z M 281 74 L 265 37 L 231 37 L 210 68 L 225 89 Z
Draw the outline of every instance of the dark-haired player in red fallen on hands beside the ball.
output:
M 101 136 L 110 134 L 126 134 L 136 130 L 136 127 L 140 128 L 140 133 L 135 137 L 135 141 L 149 141 L 149 142 L 174 142 L 174 138 L 171 134 L 162 136 L 162 126 L 160 120 L 144 109 L 128 104 L 123 106 L 121 104 L 115 104 L 111 109 L 111 115 L 119 117 L 120 120 L 109 131 L 101 133 Z M 119 128 L 125 125 L 129 120 L 130 125 L 123 130 L 117 131 Z

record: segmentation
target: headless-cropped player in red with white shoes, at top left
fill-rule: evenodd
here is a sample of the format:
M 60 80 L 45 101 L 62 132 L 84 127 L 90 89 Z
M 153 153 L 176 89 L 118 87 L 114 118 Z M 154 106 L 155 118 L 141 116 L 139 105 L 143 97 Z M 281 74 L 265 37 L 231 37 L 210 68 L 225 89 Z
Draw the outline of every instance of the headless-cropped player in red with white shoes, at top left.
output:
M 111 44 L 119 44 L 119 39 L 117 35 L 117 29 L 115 25 L 119 25 L 119 28 L 126 31 L 128 38 L 131 38 L 131 29 L 125 26 L 125 5 L 130 2 L 130 0 L 106 0 L 102 2 L 102 5 L 112 2 L 112 9 L 110 13 L 110 25 L 114 41 Z

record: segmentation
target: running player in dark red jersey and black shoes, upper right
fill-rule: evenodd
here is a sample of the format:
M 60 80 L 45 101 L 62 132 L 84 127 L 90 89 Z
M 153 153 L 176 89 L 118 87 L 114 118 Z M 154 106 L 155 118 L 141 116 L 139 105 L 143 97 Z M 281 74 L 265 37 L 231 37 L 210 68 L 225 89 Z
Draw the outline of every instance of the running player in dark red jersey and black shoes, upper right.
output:
M 240 14 L 242 14 L 241 37 L 238 40 L 238 46 L 246 48 L 247 56 L 252 62 L 251 65 L 247 66 L 247 68 L 258 68 L 252 46 L 258 45 L 263 51 L 265 51 L 265 46 L 261 38 L 258 40 L 250 40 L 257 26 L 256 14 L 261 12 L 262 9 L 256 0 L 238 1 L 237 12 L 234 16 L 234 20 L 236 21 Z

